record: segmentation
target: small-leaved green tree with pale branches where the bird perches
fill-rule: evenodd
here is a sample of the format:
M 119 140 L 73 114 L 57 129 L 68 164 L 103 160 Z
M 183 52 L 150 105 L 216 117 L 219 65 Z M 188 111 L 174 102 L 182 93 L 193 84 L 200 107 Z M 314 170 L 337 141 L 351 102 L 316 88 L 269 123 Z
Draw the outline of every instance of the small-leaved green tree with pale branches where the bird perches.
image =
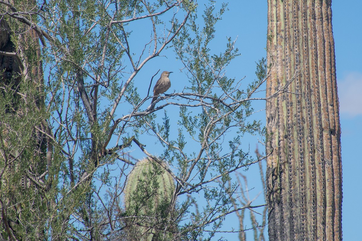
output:
M 220 53 L 210 47 L 226 5 L 202 7 L 189 0 L 0 1 L 0 239 L 137 238 L 129 237 L 130 224 L 153 225 L 138 229 L 152 229 L 152 239 L 211 239 L 227 215 L 263 205 L 239 202 L 232 176 L 259 161 L 241 137 L 261 132 L 251 101 L 265 64 L 252 83 L 227 77 L 235 41 L 228 38 Z M 147 108 L 157 70 L 139 77 L 141 69 L 167 49 L 185 89 Z M 128 175 L 145 157 L 175 184 L 160 216 L 135 215 L 125 203 Z M 152 188 L 140 182 L 136 202 L 158 193 L 156 176 Z

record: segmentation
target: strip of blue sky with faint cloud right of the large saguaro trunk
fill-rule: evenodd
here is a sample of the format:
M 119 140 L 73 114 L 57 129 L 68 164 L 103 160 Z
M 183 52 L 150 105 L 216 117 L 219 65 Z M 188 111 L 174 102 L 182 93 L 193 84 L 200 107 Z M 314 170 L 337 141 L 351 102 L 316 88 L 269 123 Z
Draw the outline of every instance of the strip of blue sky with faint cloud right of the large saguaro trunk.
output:
M 362 162 L 362 1 L 332 2 L 332 24 L 336 49 L 336 70 L 342 129 L 344 240 L 361 238 Z

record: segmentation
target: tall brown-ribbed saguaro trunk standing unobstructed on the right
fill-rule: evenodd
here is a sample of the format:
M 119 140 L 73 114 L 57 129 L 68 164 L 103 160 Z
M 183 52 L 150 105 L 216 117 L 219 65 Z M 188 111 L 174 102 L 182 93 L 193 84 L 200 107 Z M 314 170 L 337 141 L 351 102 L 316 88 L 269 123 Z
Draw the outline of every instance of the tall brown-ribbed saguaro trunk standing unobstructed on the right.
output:
M 267 48 L 269 239 L 341 240 L 331 1 L 268 0 Z

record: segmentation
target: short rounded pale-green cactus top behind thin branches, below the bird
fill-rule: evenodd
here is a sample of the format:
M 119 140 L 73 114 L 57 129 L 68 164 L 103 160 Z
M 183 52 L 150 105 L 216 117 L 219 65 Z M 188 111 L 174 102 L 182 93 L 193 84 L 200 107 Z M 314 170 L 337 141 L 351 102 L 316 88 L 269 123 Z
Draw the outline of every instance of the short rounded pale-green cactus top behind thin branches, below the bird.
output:
M 132 239 L 160 240 L 156 236 L 161 235 L 161 229 L 174 227 L 174 224 L 170 224 L 170 202 L 174 190 L 171 174 L 159 164 L 148 158 L 136 163 L 124 190 L 126 212 L 129 216 L 136 217 L 126 222 L 130 226 L 129 235 Z M 170 235 L 170 232 L 166 232 L 166 236 Z M 162 240 L 169 239 L 166 237 Z

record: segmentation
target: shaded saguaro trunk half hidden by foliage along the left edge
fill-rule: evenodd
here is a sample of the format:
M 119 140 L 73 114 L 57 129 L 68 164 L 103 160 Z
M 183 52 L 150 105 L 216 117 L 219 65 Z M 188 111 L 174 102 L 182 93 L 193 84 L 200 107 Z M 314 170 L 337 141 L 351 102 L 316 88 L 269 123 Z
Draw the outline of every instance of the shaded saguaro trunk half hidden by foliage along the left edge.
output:
M 36 1 L 17 1 L 17 8 L 13 2 L 0 4 L 0 240 L 45 240 L 55 202 L 48 199 L 53 141 L 44 111 L 42 37 L 29 24 L 35 14 L 22 15 Z

